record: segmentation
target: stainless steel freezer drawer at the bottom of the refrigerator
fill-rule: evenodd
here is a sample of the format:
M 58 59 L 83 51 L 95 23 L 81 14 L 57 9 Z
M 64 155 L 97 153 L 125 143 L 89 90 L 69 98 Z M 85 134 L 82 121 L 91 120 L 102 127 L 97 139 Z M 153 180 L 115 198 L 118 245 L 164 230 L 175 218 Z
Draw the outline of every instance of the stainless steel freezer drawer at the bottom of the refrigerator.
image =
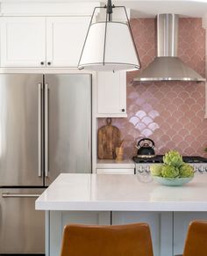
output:
M 43 191 L 0 189 L 0 254 L 45 252 L 45 214 L 34 206 Z

